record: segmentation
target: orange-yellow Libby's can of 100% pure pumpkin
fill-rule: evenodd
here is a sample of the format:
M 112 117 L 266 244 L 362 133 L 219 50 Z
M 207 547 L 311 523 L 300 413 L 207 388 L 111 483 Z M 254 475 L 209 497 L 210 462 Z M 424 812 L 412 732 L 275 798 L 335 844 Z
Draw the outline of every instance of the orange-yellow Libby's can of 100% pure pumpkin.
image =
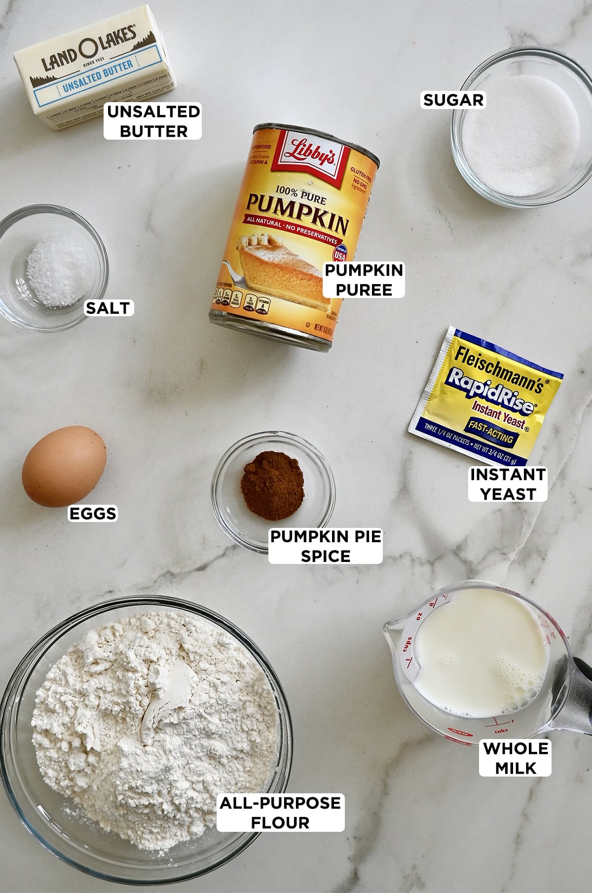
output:
M 342 299 L 323 297 L 322 265 L 354 257 L 379 159 L 321 130 L 253 134 L 210 320 L 328 351 Z

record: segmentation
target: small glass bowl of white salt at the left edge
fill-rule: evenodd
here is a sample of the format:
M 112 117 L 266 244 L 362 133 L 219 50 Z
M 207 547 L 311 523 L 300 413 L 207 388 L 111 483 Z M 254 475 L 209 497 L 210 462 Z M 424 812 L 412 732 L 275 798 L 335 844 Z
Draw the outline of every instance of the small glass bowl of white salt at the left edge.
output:
M 0 222 L 0 314 L 39 332 L 84 320 L 84 302 L 100 301 L 109 278 L 96 230 L 68 208 L 30 204 Z

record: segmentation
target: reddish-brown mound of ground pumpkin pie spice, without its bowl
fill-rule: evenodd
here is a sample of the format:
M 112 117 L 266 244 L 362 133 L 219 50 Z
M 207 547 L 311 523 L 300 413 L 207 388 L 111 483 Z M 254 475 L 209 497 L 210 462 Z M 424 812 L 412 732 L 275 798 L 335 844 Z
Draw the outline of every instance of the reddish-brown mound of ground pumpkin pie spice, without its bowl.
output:
M 245 465 L 240 489 L 251 512 L 266 521 L 281 521 L 302 505 L 304 475 L 297 459 L 266 450 Z

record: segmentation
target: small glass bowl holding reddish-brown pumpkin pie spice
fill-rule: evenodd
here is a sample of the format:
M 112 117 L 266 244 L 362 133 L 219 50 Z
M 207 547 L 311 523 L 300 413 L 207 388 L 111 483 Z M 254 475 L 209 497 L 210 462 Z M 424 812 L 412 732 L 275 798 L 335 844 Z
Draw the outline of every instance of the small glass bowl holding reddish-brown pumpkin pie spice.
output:
M 213 513 L 239 546 L 267 553 L 271 527 L 325 527 L 335 505 L 329 463 L 313 444 L 286 431 L 238 440 L 212 480 Z

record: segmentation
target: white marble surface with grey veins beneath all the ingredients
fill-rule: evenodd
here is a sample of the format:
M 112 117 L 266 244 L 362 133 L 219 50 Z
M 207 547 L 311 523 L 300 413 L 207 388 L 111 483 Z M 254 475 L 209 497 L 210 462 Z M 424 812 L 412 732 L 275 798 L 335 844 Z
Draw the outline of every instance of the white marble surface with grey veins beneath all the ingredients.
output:
M 179 79 L 174 98 L 203 104 L 200 142 L 105 142 L 100 120 L 46 129 L 13 51 L 117 4 L 0 0 L 0 216 L 38 202 L 78 211 L 106 243 L 108 295 L 136 302 L 130 320 L 57 335 L 0 321 L 0 684 L 86 605 L 133 592 L 195 600 L 246 630 L 278 672 L 295 729 L 290 789 L 345 793 L 347 820 L 343 834 L 263 835 L 179 890 L 583 893 L 592 739 L 555 733 L 549 779 L 480 779 L 474 749 L 439 739 L 405 708 L 381 627 L 475 576 L 544 605 L 575 653 L 592 658 L 592 185 L 539 211 L 488 204 L 454 168 L 447 113 L 419 108 L 421 90 L 459 87 L 510 45 L 552 46 L 592 69 L 592 8 L 152 6 Z M 379 155 L 358 257 L 407 264 L 404 299 L 351 301 L 329 355 L 207 319 L 251 129 L 274 120 Z M 549 468 L 545 504 L 469 503 L 470 460 L 406 433 L 450 323 L 564 372 L 533 454 Z M 21 489 L 29 447 L 77 423 L 106 441 L 94 501 L 119 505 L 116 524 L 70 524 Z M 381 566 L 271 566 L 225 538 L 210 506 L 213 468 L 234 440 L 269 428 L 327 455 L 333 522 L 384 528 Z M 0 796 L 3 893 L 114 887 L 38 846 Z

